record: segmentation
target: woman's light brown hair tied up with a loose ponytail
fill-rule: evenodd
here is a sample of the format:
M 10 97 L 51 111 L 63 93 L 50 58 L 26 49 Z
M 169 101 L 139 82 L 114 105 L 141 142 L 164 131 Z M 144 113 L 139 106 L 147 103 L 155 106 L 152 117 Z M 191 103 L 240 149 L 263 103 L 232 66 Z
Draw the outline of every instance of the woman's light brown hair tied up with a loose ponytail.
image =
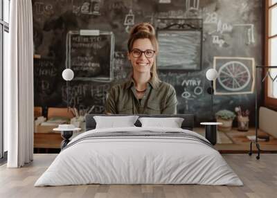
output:
M 128 52 L 131 53 L 132 47 L 136 39 L 150 39 L 152 46 L 154 47 L 154 51 L 156 55 L 159 53 L 159 44 L 157 38 L 155 36 L 155 29 L 149 23 L 139 23 L 136 24 L 129 33 L 129 40 L 128 40 Z M 157 64 L 156 59 L 154 59 L 153 65 L 151 67 L 152 73 L 152 80 L 154 82 L 161 82 L 158 77 L 157 73 Z

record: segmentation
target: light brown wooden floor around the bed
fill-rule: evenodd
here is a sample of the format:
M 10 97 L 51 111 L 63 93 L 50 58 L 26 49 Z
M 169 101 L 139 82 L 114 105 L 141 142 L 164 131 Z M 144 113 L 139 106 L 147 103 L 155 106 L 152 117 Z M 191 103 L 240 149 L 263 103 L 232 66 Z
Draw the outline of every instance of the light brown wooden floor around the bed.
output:
M 200 185 L 84 185 L 33 187 L 57 154 L 35 154 L 24 168 L 0 167 L 0 197 L 276 197 L 277 154 L 222 154 L 244 186 Z

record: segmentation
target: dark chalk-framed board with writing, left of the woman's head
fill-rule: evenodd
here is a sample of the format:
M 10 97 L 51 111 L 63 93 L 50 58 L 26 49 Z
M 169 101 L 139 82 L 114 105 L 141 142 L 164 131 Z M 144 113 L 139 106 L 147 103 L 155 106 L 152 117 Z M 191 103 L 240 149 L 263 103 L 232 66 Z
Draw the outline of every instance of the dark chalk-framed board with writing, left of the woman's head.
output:
M 113 33 L 80 30 L 66 35 L 66 68 L 74 71 L 73 80 L 111 81 L 113 59 Z

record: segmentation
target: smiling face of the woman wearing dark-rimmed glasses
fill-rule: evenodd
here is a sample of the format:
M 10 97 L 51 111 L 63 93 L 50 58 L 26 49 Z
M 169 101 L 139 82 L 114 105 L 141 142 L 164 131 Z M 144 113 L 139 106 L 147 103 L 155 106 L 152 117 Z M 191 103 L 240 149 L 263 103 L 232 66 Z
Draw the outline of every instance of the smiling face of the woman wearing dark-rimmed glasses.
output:
M 155 58 L 155 54 L 152 54 L 154 53 L 154 47 L 152 46 L 150 39 L 136 39 L 134 41 L 132 51 L 133 53 L 128 53 L 128 58 L 132 63 L 134 72 L 150 73 L 150 69 L 153 65 Z M 140 51 L 145 51 L 145 53 L 141 53 L 139 57 L 133 56 L 137 56 L 140 53 Z M 145 54 L 147 54 L 148 57 L 146 57 Z

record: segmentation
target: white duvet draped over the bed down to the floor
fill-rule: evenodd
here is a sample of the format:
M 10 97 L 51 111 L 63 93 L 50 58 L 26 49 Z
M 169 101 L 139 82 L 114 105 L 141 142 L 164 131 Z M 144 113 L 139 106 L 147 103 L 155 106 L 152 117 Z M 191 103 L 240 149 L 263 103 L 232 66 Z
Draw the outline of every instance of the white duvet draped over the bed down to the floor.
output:
M 93 129 L 101 132 L 184 132 L 165 127 Z M 62 150 L 35 186 L 101 184 L 204 184 L 242 186 L 237 174 L 212 147 L 178 137 L 107 137 L 79 141 Z

